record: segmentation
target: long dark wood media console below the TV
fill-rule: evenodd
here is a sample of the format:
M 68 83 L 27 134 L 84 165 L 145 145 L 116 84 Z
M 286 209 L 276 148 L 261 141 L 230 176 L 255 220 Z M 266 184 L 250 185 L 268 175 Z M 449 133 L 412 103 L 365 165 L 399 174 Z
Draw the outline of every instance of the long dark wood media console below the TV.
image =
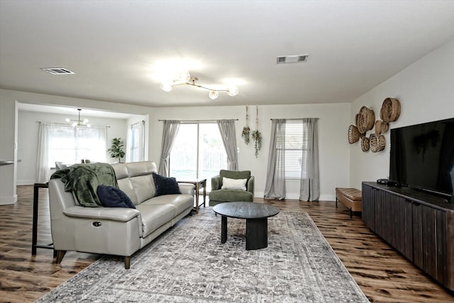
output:
M 454 205 L 409 187 L 362 182 L 362 221 L 454 291 Z

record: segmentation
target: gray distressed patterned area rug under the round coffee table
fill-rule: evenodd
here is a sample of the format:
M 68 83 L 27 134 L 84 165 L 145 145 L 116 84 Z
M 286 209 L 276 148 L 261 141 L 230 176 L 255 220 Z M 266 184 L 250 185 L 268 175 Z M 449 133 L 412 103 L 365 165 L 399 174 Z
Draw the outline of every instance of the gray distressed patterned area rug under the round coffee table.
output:
M 65 259 L 63 259 L 65 262 Z M 369 302 L 304 212 L 268 219 L 268 247 L 245 250 L 245 220 L 187 216 L 131 258 L 106 255 L 37 302 Z

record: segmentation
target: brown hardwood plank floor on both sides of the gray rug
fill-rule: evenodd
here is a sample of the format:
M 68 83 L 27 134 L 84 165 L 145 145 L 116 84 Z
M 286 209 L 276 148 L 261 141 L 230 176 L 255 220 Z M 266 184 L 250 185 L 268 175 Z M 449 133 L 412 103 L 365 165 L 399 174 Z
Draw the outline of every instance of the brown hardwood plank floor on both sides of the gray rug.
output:
M 0 206 L 0 302 L 33 302 L 86 268 L 99 255 L 68 252 L 60 265 L 52 250 L 31 255 L 33 187 L 18 186 L 18 202 Z M 38 243 L 48 244 L 47 189 L 40 189 Z M 283 211 L 306 211 L 371 302 L 454 302 L 437 282 L 409 263 L 334 202 L 264 201 Z

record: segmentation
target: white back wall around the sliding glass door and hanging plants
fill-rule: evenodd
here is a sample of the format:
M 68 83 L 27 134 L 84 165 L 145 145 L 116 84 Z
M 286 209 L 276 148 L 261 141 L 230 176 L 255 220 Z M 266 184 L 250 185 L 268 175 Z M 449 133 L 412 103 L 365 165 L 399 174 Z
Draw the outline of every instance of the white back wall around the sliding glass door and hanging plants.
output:
M 249 106 L 249 126 L 255 130 L 255 106 Z M 184 108 L 156 108 L 150 121 L 152 133 L 152 158 L 159 163 L 162 121 L 238 119 L 236 122 L 239 170 L 251 170 L 255 176 L 255 197 L 263 197 L 265 191 L 267 158 L 270 143 L 270 119 L 319 118 L 320 190 L 322 200 L 335 199 L 335 187 L 347 187 L 349 180 L 349 150 L 344 144 L 343 128 L 350 116 L 350 104 L 301 104 L 259 106 L 259 131 L 262 133 L 262 150 L 255 158 L 252 141 L 245 145 L 241 131 L 245 126 L 245 106 L 201 106 Z M 299 182 L 287 182 L 287 198 L 298 199 Z

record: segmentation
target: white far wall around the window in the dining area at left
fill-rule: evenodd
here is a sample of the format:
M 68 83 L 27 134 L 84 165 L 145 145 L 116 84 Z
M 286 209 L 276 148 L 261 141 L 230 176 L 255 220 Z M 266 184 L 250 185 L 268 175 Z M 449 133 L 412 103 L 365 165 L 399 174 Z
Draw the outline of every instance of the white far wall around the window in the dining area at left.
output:
M 18 111 L 18 148 L 17 157 L 21 162 L 17 163 L 17 184 L 35 183 L 36 155 L 38 151 L 38 128 L 37 121 L 65 123 L 66 116 L 60 114 L 46 114 L 32 111 Z M 70 116 L 70 119 L 74 117 Z M 92 125 L 109 126 L 106 138 L 106 162 L 113 163 L 116 159 L 107 153 L 112 138 L 120 137 L 126 141 L 126 119 L 106 119 L 99 117 L 84 117 L 89 119 Z

